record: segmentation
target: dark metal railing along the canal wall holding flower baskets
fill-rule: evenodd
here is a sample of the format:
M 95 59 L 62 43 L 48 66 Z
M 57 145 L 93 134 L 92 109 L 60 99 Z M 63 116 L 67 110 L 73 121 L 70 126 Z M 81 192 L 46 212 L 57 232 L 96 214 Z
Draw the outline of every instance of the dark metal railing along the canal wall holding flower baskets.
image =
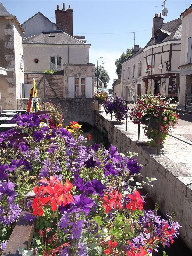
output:
M 110 99 L 110 97 L 103 97 L 103 98 L 107 98 L 107 99 Z M 101 113 L 103 113 L 103 98 L 101 99 Z M 122 115 L 125 115 L 125 131 L 127 131 L 127 117 L 129 117 L 129 115 L 127 114 L 127 111 L 128 111 L 128 103 L 133 103 L 131 101 L 128 101 L 128 100 L 121 100 L 121 101 L 125 101 L 126 102 L 126 114 L 122 113 L 119 111 L 119 99 L 117 99 L 117 122 L 119 122 L 119 113 L 122 114 Z M 98 101 L 98 111 L 99 111 L 99 101 Z M 155 127 L 152 127 L 153 129 L 156 129 L 158 130 L 158 144 L 157 144 L 157 155 L 160 154 L 160 146 L 161 146 L 161 133 L 164 133 L 164 134 L 167 134 L 179 141 L 182 141 L 184 143 L 187 143 L 189 145 L 192 146 L 192 143 L 190 142 L 187 142 L 187 141 L 184 141 L 170 133 L 166 133 L 164 131 L 161 130 L 161 124 L 162 124 L 162 109 L 167 109 L 167 110 L 172 110 L 174 112 L 179 112 L 179 113 L 185 113 L 185 114 L 191 114 L 192 115 L 192 111 L 187 111 L 187 110 L 180 110 L 180 109 L 173 109 L 173 108 L 166 108 L 164 106 L 157 106 L 157 105 L 153 105 L 154 107 L 156 108 L 159 108 L 159 123 L 157 124 L 158 125 L 158 128 L 155 128 Z M 106 113 L 106 116 L 107 116 L 107 113 Z M 150 119 L 150 118 L 149 118 Z M 112 113 L 111 113 L 111 120 L 112 120 Z M 150 122 L 148 123 L 148 125 L 150 125 Z M 140 123 L 138 124 L 138 134 L 137 134 L 137 140 L 139 141 L 140 139 Z

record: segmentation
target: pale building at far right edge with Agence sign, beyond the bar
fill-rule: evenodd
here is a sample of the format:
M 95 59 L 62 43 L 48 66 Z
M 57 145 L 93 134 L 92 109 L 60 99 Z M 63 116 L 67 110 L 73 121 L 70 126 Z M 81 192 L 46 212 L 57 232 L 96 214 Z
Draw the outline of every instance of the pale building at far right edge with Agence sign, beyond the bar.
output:
M 180 16 L 182 21 L 181 37 L 181 58 L 180 58 L 180 95 L 179 103 L 185 104 L 187 99 L 192 96 L 192 5 Z

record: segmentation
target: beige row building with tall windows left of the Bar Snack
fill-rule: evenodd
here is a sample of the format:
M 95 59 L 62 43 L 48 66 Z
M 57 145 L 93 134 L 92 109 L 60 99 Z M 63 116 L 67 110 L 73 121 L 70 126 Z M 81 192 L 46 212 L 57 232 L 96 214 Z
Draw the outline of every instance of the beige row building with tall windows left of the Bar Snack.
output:
M 134 45 L 133 54 L 121 65 L 121 96 L 129 101 L 141 96 L 143 50 Z M 119 96 L 119 95 L 118 95 Z

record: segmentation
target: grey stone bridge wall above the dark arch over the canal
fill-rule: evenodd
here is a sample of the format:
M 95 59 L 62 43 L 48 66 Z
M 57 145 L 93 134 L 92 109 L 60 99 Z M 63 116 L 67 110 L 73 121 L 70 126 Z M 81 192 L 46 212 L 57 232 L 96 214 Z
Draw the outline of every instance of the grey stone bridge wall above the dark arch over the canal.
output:
M 55 105 L 60 104 L 63 109 L 64 123 L 69 125 L 71 121 L 87 122 L 95 125 L 95 110 L 97 101 L 92 98 L 41 98 L 41 103 L 51 102 Z

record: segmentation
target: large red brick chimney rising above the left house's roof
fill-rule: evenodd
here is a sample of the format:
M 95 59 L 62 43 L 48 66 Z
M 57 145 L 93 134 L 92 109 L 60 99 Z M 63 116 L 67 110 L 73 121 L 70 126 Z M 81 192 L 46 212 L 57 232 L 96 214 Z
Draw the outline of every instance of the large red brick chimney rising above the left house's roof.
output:
M 70 5 L 67 10 L 65 10 L 65 3 L 63 3 L 62 10 L 59 10 L 59 5 L 57 5 L 57 10 L 55 10 L 55 23 L 57 30 L 62 30 L 70 36 L 73 36 L 73 9 L 71 9 Z

